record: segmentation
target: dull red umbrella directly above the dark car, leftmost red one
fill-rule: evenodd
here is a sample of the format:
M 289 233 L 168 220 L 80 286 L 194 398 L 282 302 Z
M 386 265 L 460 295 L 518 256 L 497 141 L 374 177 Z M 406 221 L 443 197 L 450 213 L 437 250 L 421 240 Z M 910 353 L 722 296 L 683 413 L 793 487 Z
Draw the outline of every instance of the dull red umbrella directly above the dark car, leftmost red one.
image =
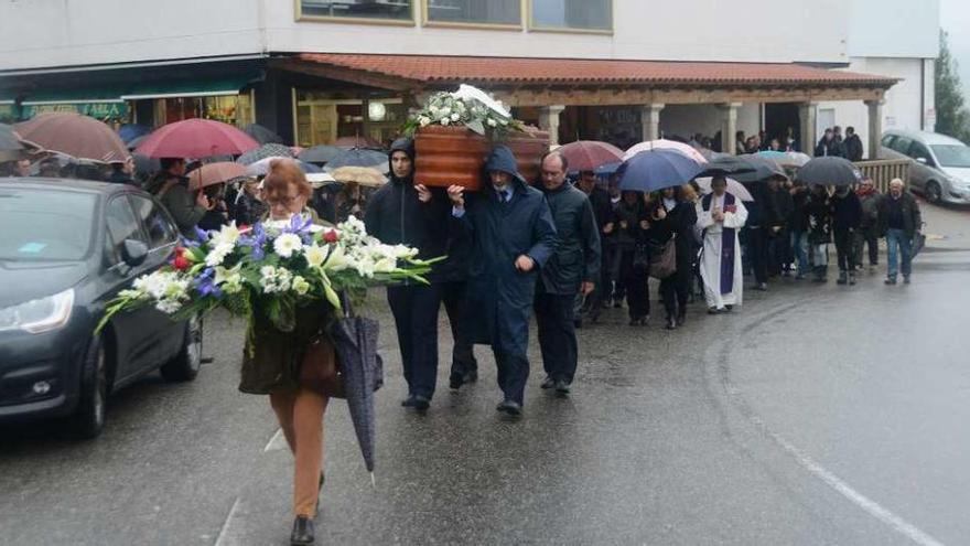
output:
M 130 157 L 125 142 L 110 127 L 80 114 L 42 114 L 18 124 L 15 129 L 30 144 L 83 161 L 114 163 Z

